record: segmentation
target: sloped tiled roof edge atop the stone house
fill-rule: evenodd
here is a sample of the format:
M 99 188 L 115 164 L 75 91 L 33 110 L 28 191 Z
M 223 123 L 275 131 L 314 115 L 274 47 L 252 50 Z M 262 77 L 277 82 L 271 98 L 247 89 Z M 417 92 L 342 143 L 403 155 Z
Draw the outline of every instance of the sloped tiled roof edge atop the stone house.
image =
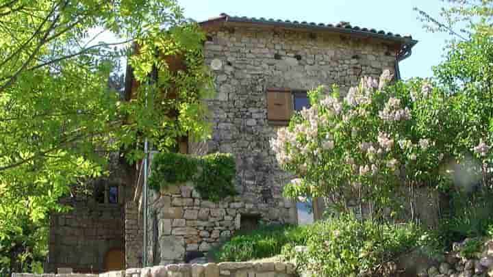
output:
M 294 28 L 294 29 L 312 29 L 314 31 L 329 31 L 332 33 L 338 34 L 352 34 L 352 35 L 360 35 L 360 36 L 368 36 L 372 38 L 380 38 L 383 40 L 390 40 L 393 42 L 398 42 L 399 44 L 405 44 L 408 47 L 413 47 L 417 40 L 413 40 L 412 36 L 401 36 L 400 34 L 393 34 L 388 31 L 370 29 L 366 27 L 359 26 L 351 26 L 347 22 L 340 22 L 336 25 L 333 24 L 325 24 L 325 23 L 314 23 L 307 21 L 290 21 L 290 20 L 281 20 L 274 18 L 255 18 L 255 17 L 247 17 L 247 16 L 230 16 L 229 14 L 220 14 L 214 18 L 207 19 L 206 21 L 201 21 L 201 25 L 207 25 L 209 23 L 251 23 L 255 25 L 266 25 L 273 27 L 286 27 L 286 28 Z

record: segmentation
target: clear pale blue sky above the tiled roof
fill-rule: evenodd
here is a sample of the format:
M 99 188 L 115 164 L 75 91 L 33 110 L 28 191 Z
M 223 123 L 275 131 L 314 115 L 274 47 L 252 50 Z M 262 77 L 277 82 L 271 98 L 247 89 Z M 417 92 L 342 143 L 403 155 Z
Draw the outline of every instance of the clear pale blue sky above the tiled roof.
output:
M 413 54 L 401 63 L 401 75 L 430 77 L 431 66 L 443 60 L 447 34 L 431 34 L 422 28 L 418 7 L 438 16 L 446 3 L 440 0 L 178 0 L 185 15 L 197 21 L 218 16 L 221 12 L 237 16 L 280 18 L 316 23 L 349 21 L 351 25 L 411 34 L 419 40 Z

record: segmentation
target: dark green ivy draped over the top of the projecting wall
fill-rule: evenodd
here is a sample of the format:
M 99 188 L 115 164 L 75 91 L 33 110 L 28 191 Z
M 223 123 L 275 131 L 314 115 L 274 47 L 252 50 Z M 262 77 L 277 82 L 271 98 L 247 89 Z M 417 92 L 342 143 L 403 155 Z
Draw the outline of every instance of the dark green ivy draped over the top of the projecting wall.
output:
M 159 190 L 192 181 L 201 198 L 218 202 L 237 194 L 233 185 L 235 175 L 236 163 L 231 154 L 191 157 L 178 153 L 157 153 L 151 164 L 149 187 Z

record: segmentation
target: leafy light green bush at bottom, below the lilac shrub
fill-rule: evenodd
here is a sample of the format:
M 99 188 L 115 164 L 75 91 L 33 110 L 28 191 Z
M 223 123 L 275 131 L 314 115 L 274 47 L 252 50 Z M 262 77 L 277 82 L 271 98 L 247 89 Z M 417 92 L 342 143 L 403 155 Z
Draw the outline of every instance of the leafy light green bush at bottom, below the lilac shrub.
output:
M 422 235 L 412 224 L 359 221 L 352 215 L 318 222 L 307 233 L 305 252 L 287 246 L 283 256 L 314 276 L 382 276 L 385 265 L 416 248 Z

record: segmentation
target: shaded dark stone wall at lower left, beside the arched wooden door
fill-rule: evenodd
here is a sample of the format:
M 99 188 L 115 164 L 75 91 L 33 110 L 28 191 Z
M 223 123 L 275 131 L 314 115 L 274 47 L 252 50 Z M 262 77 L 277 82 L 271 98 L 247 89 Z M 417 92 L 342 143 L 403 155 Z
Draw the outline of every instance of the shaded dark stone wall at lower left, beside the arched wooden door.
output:
M 105 271 L 105 254 L 124 250 L 123 206 L 92 201 L 66 202 L 72 211 L 52 214 L 47 272 L 72 267 L 77 272 Z

